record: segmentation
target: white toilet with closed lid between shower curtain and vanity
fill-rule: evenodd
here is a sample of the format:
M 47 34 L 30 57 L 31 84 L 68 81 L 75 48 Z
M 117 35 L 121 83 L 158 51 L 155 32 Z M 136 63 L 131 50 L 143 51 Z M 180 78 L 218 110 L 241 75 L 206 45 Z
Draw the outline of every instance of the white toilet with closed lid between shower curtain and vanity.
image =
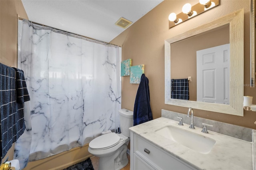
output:
M 90 154 L 99 157 L 99 170 L 120 170 L 128 164 L 126 155 L 133 126 L 133 111 L 119 110 L 121 133 L 109 132 L 94 138 L 89 143 Z

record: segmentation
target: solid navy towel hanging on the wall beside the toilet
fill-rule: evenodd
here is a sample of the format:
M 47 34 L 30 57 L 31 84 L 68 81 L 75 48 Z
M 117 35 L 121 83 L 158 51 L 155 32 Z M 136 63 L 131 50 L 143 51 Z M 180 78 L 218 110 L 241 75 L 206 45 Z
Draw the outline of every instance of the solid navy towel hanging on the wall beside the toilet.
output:
M 134 103 L 133 125 L 136 126 L 151 120 L 153 120 L 153 117 L 150 107 L 148 78 L 145 74 L 142 74 Z

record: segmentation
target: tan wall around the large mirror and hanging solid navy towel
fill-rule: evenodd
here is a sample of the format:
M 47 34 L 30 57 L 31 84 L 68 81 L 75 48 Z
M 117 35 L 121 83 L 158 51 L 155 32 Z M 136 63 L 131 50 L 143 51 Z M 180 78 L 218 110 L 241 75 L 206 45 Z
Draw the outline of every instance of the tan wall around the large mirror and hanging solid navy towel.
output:
M 145 64 L 154 119 L 161 116 L 161 109 L 184 114 L 188 111 L 186 107 L 164 104 L 164 40 L 242 8 L 244 8 L 244 84 L 250 84 L 250 0 L 220 0 L 220 5 L 216 8 L 169 29 L 169 14 L 180 13 L 182 6 L 187 2 L 189 0 L 164 0 L 111 41 L 122 45 L 122 60 L 132 58 L 132 65 Z M 129 79 L 129 76 L 122 77 L 122 108 L 133 110 L 138 84 L 130 84 Z M 245 86 L 244 95 L 253 96 L 253 103 L 256 103 L 255 88 Z M 252 111 L 244 111 L 244 117 L 240 117 L 195 109 L 194 115 L 256 129 L 254 125 L 256 113 Z

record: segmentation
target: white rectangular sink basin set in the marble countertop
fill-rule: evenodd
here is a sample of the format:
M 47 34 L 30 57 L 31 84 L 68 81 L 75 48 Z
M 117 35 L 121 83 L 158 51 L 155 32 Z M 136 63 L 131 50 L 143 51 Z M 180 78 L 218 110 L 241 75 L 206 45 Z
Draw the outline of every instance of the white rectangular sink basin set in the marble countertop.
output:
M 162 127 L 155 132 L 202 154 L 208 154 L 216 142 L 203 135 L 173 126 Z

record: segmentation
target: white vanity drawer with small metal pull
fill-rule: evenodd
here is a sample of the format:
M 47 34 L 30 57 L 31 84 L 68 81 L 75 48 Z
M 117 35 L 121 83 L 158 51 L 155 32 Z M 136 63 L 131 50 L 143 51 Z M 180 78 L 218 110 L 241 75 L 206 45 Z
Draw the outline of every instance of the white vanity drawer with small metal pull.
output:
M 191 170 L 192 166 L 182 162 L 178 158 L 164 152 L 160 148 L 153 146 L 146 140 L 134 135 L 134 153 L 140 156 L 154 169 L 160 170 Z

